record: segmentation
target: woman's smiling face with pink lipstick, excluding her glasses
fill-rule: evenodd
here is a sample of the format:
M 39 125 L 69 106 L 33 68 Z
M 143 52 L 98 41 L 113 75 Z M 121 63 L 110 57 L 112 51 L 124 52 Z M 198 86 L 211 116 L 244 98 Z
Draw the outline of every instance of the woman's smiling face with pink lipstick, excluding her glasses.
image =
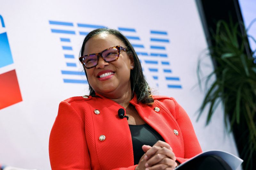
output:
M 117 45 L 125 47 L 124 43 L 115 35 L 100 33 L 85 43 L 83 55 L 100 53 Z M 107 63 L 102 57 L 99 57 L 98 65 L 91 69 L 86 69 L 86 73 L 88 81 L 95 92 L 116 99 L 126 92 L 131 92 L 130 71 L 132 66 L 132 59 L 125 51 L 121 50 L 116 61 Z

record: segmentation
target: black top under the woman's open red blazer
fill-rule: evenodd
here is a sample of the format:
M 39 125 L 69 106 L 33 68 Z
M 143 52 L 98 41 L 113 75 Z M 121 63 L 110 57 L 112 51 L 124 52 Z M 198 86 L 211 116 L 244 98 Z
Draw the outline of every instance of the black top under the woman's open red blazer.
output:
M 158 140 L 164 141 L 164 139 L 148 124 L 129 125 L 129 128 L 132 135 L 134 165 L 136 165 L 144 154 L 142 145 L 153 146 Z

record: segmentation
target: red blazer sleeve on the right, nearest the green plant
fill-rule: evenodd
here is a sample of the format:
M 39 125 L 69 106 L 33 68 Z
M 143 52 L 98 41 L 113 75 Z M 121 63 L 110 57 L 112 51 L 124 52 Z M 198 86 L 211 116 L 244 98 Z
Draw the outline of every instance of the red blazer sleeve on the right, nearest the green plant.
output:
M 196 156 L 202 152 L 201 146 L 197 140 L 195 130 L 186 111 L 172 98 L 175 104 L 175 117 L 180 126 L 184 142 L 184 158 L 177 158 L 180 163 Z

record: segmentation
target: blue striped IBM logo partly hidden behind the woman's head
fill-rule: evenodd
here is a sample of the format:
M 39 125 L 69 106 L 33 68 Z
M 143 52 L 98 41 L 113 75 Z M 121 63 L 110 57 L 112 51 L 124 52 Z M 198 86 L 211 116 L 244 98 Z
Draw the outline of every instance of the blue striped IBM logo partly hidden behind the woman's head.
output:
M 86 36 L 90 31 L 106 26 L 89 25 L 83 23 L 49 21 L 51 32 L 59 35 L 61 48 L 66 59 L 65 70 L 61 70 L 64 83 L 87 83 L 78 69 L 78 56 L 75 57 L 72 37 L 74 35 Z M 155 82 L 156 86 L 160 83 L 165 84 L 166 88 L 181 89 L 180 77 L 173 75 L 170 58 L 167 54 L 166 46 L 170 44 L 166 31 L 148 30 L 150 37 L 142 40 L 135 28 L 118 27 L 126 38 L 131 42 L 137 55 L 139 56 L 143 72 L 146 78 Z M 144 42 L 144 43 L 143 43 Z M 145 45 L 148 44 L 148 45 Z M 77 55 L 77 54 L 76 54 Z M 79 78 L 80 76 L 80 78 Z M 160 79 L 161 78 L 161 79 Z

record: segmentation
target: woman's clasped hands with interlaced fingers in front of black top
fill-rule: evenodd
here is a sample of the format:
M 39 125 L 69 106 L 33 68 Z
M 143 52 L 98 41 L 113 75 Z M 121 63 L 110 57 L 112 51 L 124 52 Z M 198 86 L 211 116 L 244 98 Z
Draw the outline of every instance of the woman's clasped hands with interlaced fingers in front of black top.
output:
M 142 150 L 145 154 L 140 158 L 135 170 L 173 170 L 177 166 L 172 148 L 166 142 L 157 141 L 152 147 L 143 145 Z

